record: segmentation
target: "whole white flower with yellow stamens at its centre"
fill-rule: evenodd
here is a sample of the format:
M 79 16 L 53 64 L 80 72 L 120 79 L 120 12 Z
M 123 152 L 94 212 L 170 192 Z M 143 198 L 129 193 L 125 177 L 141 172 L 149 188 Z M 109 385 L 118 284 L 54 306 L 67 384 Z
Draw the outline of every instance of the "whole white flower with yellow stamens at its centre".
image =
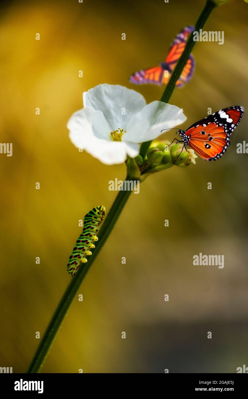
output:
M 186 120 L 175 105 L 153 101 L 146 105 L 140 93 L 120 85 L 98 85 L 83 94 L 84 108 L 67 127 L 72 143 L 103 164 L 121 164 L 139 154 L 139 143 L 153 140 L 162 129 Z

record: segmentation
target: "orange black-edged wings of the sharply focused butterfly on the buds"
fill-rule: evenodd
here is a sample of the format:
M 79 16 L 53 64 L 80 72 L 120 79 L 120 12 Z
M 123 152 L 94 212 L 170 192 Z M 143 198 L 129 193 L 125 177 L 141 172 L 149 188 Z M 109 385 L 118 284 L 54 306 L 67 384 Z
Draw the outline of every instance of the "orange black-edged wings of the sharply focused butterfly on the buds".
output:
M 221 158 L 230 145 L 230 135 L 243 113 L 243 107 L 233 106 L 199 120 L 186 130 L 189 146 L 205 160 Z

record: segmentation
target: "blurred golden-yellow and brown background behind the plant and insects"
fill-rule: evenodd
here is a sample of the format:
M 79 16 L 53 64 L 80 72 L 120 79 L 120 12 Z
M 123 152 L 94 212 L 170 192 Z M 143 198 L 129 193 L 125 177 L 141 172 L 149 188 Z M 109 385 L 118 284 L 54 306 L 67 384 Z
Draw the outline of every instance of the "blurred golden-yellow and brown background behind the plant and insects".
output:
M 82 93 L 111 83 L 141 92 L 147 103 L 158 100 L 164 87 L 131 85 L 129 76 L 164 61 L 204 4 L 2 5 L 0 141 L 13 143 L 13 156 L 0 154 L 0 366 L 26 371 L 39 344 L 35 332 L 43 335 L 70 282 L 66 264 L 78 220 L 96 205 L 108 211 L 117 194 L 109 180 L 125 178 L 124 165 L 105 166 L 71 144 L 66 122 L 82 108 Z M 234 373 L 248 365 L 248 155 L 236 153 L 236 144 L 247 141 L 247 18 L 241 0 L 213 11 L 205 30 L 224 31 L 225 42 L 196 44 L 193 78 L 170 101 L 187 116 L 180 128 L 207 116 L 209 107 L 243 105 L 227 154 L 150 176 L 131 195 L 41 372 Z M 163 137 L 172 140 L 174 132 Z M 225 267 L 193 266 L 199 252 L 224 255 Z

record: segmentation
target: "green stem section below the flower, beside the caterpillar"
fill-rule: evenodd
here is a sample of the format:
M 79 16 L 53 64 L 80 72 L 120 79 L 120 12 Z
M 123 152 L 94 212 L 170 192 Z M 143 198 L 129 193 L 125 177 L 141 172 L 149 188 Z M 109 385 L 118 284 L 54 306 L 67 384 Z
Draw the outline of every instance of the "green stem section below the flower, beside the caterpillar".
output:
M 133 179 L 127 177 L 126 180 L 133 180 Z M 94 262 L 98 253 L 100 252 L 107 237 L 111 233 L 130 194 L 131 190 L 119 191 L 117 197 L 115 198 L 115 201 L 113 202 L 113 205 L 111 206 L 111 209 L 107 213 L 107 216 L 103 222 L 102 227 L 99 230 L 96 248 L 92 251 L 92 255 L 88 257 L 88 262 L 85 265 L 82 265 L 78 269 L 76 276 L 72 278 L 70 284 L 66 288 L 64 295 L 62 296 L 61 301 L 59 302 L 59 305 L 55 310 L 53 317 L 51 318 L 47 330 L 45 331 L 41 343 L 37 348 L 37 351 L 29 366 L 29 369 L 27 370 L 27 373 L 39 372 L 39 369 L 41 368 L 47 356 L 49 348 L 51 347 L 51 344 L 59 330 L 59 327 L 61 326 L 61 323 L 70 307 L 70 304 L 72 303 L 72 300 L 74 299 L 74 296 L 76 295 L 78 288 L 80 287 L 82 281 L 84 280 L 84 277 L 88 273 L 88 270 L 90 269 L 92 263 Z M 68 276 L 68 278 L 70 277 Z

